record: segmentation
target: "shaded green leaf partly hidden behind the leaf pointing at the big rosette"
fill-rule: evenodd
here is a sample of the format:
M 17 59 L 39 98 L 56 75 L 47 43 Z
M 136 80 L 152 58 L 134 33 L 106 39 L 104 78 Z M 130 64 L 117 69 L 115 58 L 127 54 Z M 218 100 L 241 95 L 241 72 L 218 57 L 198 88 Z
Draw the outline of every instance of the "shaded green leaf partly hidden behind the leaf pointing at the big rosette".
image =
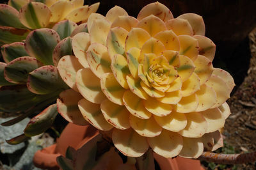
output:
M 7 81 L 16 84 L 25 84 L 28 79 L 28 73 L 40 66 L 42 66 L 42 63 L 35 58 L 17 58 L 5 66 L 4 77 Z

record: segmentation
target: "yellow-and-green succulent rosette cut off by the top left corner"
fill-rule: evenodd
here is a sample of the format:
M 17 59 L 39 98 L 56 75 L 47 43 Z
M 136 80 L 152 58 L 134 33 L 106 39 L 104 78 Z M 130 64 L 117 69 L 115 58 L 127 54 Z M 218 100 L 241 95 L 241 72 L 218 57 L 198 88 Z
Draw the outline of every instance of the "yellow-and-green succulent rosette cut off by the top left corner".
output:
M 33 29 L 52 28 L 61 20 L 86 22 L 99 3 L 83 5 L 83 0 L 9 0 L 0 4 L 0 45 L 21 42 Z

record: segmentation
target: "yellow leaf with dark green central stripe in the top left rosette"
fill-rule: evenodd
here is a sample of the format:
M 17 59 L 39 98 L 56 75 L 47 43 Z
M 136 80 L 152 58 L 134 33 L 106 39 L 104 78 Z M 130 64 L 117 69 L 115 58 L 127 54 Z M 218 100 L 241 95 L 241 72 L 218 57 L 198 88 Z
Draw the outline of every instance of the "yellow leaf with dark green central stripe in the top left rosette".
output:
M 43 3 L 30 2 L 20 8 L 20 22 L 30 28 L 47 27 L 51 18 L 51 10 Z

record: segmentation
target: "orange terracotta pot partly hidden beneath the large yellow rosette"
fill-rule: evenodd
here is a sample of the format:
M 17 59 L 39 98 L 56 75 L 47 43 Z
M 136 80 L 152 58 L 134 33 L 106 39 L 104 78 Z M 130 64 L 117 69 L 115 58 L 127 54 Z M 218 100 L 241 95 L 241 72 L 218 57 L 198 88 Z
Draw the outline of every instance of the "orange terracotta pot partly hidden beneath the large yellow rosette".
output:
M 36 167 L 40 167 L 42 169 L 60 169 L 56 162 L 56 158 L 60 155 L 65 156 L 68 146 L 77 150 L 98 133 L 99 131 L 90 125 L 78 126 L 73 123 L 68 123 L 67 127 L 65 127 L 61 133 L 60 138 L 57 140 L 57 143 L 44 148 L 43 150 L 37 151 L 33 158 L 33 162 Z M 164 158 L 155 153 L 154 158 L 162 170 L 204 169 L 200 166 L 199 160 L 182 157 Z

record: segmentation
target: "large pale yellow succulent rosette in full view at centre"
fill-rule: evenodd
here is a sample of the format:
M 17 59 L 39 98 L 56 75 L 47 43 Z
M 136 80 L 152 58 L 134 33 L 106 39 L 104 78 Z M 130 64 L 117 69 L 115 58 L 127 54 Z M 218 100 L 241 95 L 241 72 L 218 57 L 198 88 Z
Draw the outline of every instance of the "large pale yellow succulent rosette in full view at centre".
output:
M 57 101 L 66 120 L 109 131 L 128 157 L 152 148 L 163 157 L 197 158 L 223 144 L 219 129 L 234 80 L 212 66 L 216 45 L 204 36 L 202 17 L 173 19 L 156 2 L 137 19 L 119 6 L 106 17 L 92 13 L 87 26 L 72 38 L 75 56 L 58 62 L 72 88 Z

